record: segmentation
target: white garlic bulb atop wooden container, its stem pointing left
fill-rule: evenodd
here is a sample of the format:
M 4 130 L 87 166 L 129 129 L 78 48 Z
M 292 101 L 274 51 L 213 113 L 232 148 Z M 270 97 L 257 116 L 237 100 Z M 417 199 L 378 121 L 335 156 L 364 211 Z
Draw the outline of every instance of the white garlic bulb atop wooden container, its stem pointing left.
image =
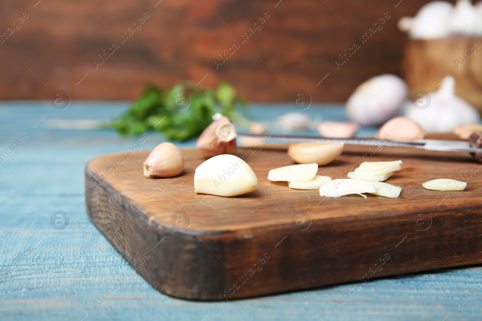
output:
M 440 39 L 450 36 L 450 19 L 454 5 L 446 1 L 431 1 L 422 6 L 415 17 L 402 17 L 399 29 L 408 31 L 412 39 Z

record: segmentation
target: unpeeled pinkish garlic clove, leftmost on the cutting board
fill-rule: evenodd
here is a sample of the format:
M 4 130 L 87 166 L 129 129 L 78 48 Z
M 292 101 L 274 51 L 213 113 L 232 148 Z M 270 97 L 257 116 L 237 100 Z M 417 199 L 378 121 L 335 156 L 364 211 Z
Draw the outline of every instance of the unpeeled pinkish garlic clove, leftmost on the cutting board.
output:
M 173 177 L 184 169 L 184 157 L 176 145 L 166 141 L 152 150 L 143 165 L 146 177 Z

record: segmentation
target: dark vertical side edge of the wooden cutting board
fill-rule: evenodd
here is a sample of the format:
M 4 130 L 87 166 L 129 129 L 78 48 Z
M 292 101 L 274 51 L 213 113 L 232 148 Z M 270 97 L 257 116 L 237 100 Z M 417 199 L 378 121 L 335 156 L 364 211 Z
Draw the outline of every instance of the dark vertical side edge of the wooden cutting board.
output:
M 147 282 L 175 297 L 222 304 L 340 282 L 362 283 L 366 273 L 372 279 L 482 263 L 480 206 L 466 213 L 442 205 L 431 214 L 412 210 L 380 219 L 326 219 L 306 231 L 293 231 L 293 225 L 247 230 L 245 236 L 228 231 L 198 235 L 149 226 L 147 216 L 107 182 L 95 188 L 102 181 L 88 164 L 85 178 L 89 218 Z

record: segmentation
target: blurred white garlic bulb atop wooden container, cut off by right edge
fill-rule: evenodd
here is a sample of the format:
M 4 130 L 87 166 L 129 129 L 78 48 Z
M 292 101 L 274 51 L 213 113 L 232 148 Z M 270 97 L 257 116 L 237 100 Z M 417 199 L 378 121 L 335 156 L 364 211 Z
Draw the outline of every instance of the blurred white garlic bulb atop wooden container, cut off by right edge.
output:
M 456 2 L 449 24 L 454 34 L 482 36 L 482 14 L 469 0 Z

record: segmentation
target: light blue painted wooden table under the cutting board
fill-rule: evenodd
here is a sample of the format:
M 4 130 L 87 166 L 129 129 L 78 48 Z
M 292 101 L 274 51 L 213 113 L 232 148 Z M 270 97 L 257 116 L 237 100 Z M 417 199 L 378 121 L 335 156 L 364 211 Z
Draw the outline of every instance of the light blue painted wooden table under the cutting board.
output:
M 0 164 L 0 320 L 482 320 L 480 266 L 374 279 L 351 296 L 346 293 L 354 284 L 345 283 L 233 300 L 219 308 L 158 292 L 85 213 L 85 163 L 125 151 L 135 139 L 92 129 L 92 120 L 112 119 L 127 106 L 72 103 L 59 111 L 49 102 L 0 104 L 0 154 L 12 148 Z M 253 107 L 254 118 L 268 121 L 296 111 L 290 105 Z M 305 112 L 345 119 L 340 106 L 319 107 Z M 374 130 L 364 128 L 362 134 Z M 161 135 L 151 134 L 142 149 L 161 141 Z M 67 214 L 60 218 L 56 211 Z M 60 228 L 51 224 L 55 219 L 63 219 Z M 129 275 L 124 282 L 122 274 Z M 119 288 L 106 295 L 113 284 Z M 104 303 L 96 305 L 100 296 Z M 343 305 L 335 303 L 343 302 L 340 296 L 348 298 Z

